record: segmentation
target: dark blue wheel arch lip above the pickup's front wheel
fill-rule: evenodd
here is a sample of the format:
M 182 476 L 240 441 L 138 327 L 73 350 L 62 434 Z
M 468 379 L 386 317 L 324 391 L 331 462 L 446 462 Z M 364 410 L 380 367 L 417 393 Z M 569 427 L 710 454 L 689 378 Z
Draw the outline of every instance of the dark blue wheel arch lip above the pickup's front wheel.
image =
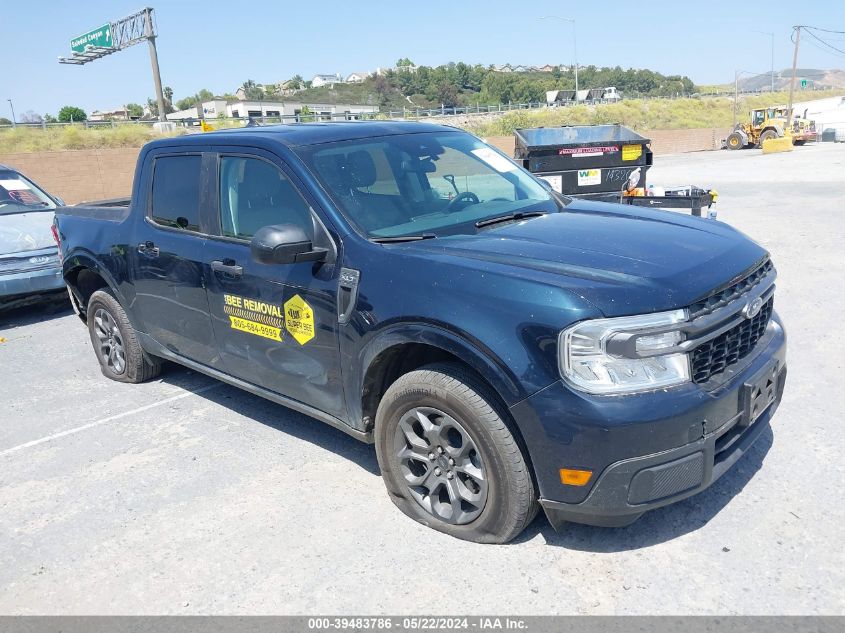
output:
M 352 426 L 363 428 L 365 425 L 361 398 L 364 377 L 373 360 L 385 350 L 406 343 L 430 345 L 457 356 L 490 383 L 507 407 L 530 395 L 506 363 L 479 341 L 471 340 L 470 336 L 431 323 L 394 323 L 373 333 L 350 363 L 353 371 L 344 373 L 346 402 Z

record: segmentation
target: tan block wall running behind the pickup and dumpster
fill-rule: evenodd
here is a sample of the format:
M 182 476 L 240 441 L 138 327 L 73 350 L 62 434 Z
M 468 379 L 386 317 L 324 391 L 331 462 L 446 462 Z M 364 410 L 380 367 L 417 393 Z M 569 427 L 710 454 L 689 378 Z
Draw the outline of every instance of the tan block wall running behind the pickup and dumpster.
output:
M 728 128 L 651 130 L 655 154 L 679 154 L 719 149 Z M 513 156 L 512 136 L 493 136 L 489 143 Z M 139 148 L 68 150 L 32 154 L 0 154 L 0 164 L 20 170 L 68 204 L 128 196 Z

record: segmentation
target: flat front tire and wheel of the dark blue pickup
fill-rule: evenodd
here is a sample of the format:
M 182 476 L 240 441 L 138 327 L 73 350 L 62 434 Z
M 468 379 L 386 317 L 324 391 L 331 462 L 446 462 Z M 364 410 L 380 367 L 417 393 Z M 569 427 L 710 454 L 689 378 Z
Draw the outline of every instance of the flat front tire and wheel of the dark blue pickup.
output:
M 448 482 L 441 478 L 440 484 L 435 482 L 434 487 L 429 488 L 425 485 L 412 486 L 408 482 L 407 478 L 415 477 L 408 468 L 411 461 L 407 458 L 403 461 L 399 454 L 402 443 L 407 442 L 407 434 L 403 429 L 408 428 L 407 421 L 413 420 L 420 411 L 430 415 L 429 421 L 440 421 L 435 428 L 440 429 L 439 437 L 446 441 L 444 452 L 439 444 L 435 446 L 434 442 L 425 437 L 418 435 L 414 438 L 415 441 L 422 439 L 426 442 L 422 445 L 423 453 L 431 449 L 428 454 L 430 463 L 425 462 L 425 457 L 419 460 L 411 458 L 415 468 L 427 469 L 425 474 L 416 473 L 416 476 L 426 481 L 435 479 L 433 474 L 437 472 L 436 465 L 439 463 L 436 460 L 441 457 L 432 458 L 432 455 L 438 449 L 452 464 L 451 467 L 444 464 L 443 468 L 455 469 L 448 471 L 451 475 Z M 539 506 L 527 460 L 505 419 L 491 390 L 460 365 L 428 365 L 401 376 L 385 392 L 375 423 L 376 454 L 390 498 L 415 521 L 456 538 L 476 543 L 506 543 L 516 537 L 536 516 Z M 458 423 L 460 433 L 452 425 L 455 422 Z M 453 433 L 466 434 L 466 444 L 461 440 L 463 447 L 451 445 Z M 457 506 L 450 506 L 458 508 L 460 517 L 473 517 L 461 523 L 454 516 L 454 520 L 445 520 L 435 510 L 426 509 L 424 501 L 427 498 L 432 508 L 445 507 L 449 504 L 439 501 L 443 498 L 441 495 L 445 491 L 447 500 L 451 501 L 452 493 L 460 485 L 463 485 L 464 492 L 478 492 L 478 484 L 467 476 L 460 463 L 456 465 L 450 457 L 452 451 L 459 452 L 467 446 L 472 447 L 470 452 L 474 451 L 477 458 L 474 468 L 484 475 L 485 501 L 483 507 L 477 508 L 466 504 L 461 497 Z M 405 444 L 404 448 L 406 451 L 415 450 L 411 443 Z M 457 459 L 467 460 L 466 457 Z M 476 464 L 475 459 L 472 464 Z M 468 462 L 466 465 L 473 468 Z M 447 485 L 450 487 L 447 488 Z M 433 495 L 437 490 L 440 494 Z

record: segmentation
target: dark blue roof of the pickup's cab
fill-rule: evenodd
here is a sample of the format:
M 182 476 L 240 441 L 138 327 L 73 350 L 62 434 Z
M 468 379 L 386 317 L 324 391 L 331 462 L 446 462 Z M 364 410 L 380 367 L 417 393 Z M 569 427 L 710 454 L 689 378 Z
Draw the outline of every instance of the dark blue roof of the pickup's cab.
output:
M 421 134 L 424 132 L 456 132 L 456 128 L 413 121 L 332 121 L 324 123 L 293 123 L 231 130 L 217 130 L 206 134 L 190 134 L 152 141 L 156 147 L 167 145 L 207 145 L 227 139 L 230 142 L 248 140 L 276 141 L 287 146 L 317 145 L 374 136 Z

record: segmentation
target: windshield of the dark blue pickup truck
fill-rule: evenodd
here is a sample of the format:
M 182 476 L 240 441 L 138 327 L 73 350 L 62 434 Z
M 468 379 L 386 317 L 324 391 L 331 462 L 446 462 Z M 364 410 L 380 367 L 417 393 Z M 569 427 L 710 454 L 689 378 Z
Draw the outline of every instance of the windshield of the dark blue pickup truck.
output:
M 301 148 L 300 155 L 371 239 L 475 233 L 492 226 L 484 220 L 562 206 L 514 163 L 463 132 L 326 143 Z

